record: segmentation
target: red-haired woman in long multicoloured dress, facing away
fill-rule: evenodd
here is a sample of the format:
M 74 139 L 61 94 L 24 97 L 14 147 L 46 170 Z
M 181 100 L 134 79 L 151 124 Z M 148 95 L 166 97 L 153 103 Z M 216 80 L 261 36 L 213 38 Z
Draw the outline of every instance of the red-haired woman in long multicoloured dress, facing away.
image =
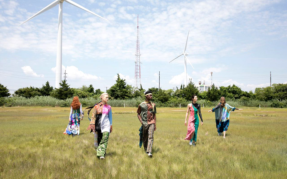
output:
M 82 104 L 79 101 L 79 98 L 75 96 L 71 103 L 71 112 L 69 117 L 69 124 L 63 134 L 70 135 L 79 135 L 80 134 L 80 119 L 84 117 L 82 111 Z

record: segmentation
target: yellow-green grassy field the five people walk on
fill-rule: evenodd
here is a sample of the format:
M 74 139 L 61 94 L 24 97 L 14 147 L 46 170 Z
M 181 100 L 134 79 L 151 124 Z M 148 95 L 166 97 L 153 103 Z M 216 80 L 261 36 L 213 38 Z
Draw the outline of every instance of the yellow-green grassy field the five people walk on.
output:
M 0 108 L 0 178 L 287 178 L 287 109 L 236 110 L 223 139 L 214 113 L 203 108 L 191 147 L 184 140 L 186 109 L 157 108 L 153 158 L 138 146 L 136 108 L 112 110 L 113 132 L 100 161 L 86 116 L 80 135 L 71 137 L 62 134 L 69 108 Z

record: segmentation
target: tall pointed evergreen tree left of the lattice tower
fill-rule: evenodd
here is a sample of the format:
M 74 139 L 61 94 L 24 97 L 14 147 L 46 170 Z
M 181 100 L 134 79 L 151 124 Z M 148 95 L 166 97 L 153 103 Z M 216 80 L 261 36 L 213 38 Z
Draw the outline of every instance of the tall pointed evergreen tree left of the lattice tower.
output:
M 125 79 L 120 79 L 117 74 L 116 84 L 107 90 L 109 96 L 114 99 L 129 99 L 132 97 L 132 86 L 126 84 Z

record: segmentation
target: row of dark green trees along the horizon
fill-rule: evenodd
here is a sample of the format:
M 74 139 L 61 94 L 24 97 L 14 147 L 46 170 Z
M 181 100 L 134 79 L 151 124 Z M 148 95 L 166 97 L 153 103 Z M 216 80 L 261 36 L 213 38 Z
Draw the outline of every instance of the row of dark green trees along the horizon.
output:
M 94 97 L 97 98 L 101 93 L 100 89 L 94 90 L 93 85 L 89 87 L 83 86 L 80 88 L 70 88 L 66 81 L 60 83 L 59 88 L 53 89 L 47 81 L 41 88 L 25 87 L 15 91 L 14 96 L 23 96 L 25 98 L 31 98 L 35 96 L 52 96 L 57 99 L 67 99 L 73 96 L 80 98 Z M 185 87 L 181 85 L 180 88 L 162 90 L 156 87 L 149 88 L 152 91 L 153 100 L 160 101 L 162 103 L 177 102 L 182 103 L 184 101 L 190 101 L 191 96 L 196 94 L 199 99 L 206 99 L 208 101 L 218 101 L 221 96 L 225 96 L 227 99 L 243 99 L 243 100 L 260 100 L 270 101 L 273 99 L 287 100 L 287 84 L 273 84 L 272 87 L 256 88 L 255 92 L 242 91 L 236 85 L 229 85 L 228 87 L 220 87 L 217 89 L 214 84 L 208 91 L 199 92 L 193 82 Z M 111 99 L 131 99 L 141 97 L 144 98 L 144 92 L 146 90 L 140 86 L 140 89 L 134 88 L 129 84 L 126 84 L 125 79 L 121 79 L 117 74 L 116 83 L 107 92 Z M 0 97 L 10 96 L 10 93 L 6 87 L 0 84 Z

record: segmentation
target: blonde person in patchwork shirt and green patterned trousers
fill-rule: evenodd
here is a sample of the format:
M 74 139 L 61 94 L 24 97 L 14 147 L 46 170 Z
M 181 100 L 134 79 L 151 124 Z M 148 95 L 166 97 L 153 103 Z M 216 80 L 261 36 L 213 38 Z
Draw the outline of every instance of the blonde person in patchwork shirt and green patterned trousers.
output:
M 109 134 L 112 132 L 112 108 L 107 104 L 108 93 L 104 92 L 100 96 L 101 101 L 94 106 L 93 115 L 87 130 L 97 132 L 97 157 L 105 159 Z

